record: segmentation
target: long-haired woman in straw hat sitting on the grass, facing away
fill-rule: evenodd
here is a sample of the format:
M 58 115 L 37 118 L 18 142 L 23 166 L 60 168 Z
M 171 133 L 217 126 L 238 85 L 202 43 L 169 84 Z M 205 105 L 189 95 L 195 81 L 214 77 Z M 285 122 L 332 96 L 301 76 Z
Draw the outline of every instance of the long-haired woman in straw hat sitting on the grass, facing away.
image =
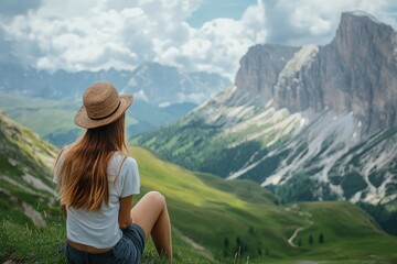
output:
M 64 147 L 55 163 L 66 218 L 69 263 L 138 263 L 151 234 L 160 256 L 172 260 L 171 223 L 164 197 L 139 194 L 137 162 L 128 156 L 125 111 L 132 96 L 107 82 L 89 86 L 75 123 L 85 134 Z

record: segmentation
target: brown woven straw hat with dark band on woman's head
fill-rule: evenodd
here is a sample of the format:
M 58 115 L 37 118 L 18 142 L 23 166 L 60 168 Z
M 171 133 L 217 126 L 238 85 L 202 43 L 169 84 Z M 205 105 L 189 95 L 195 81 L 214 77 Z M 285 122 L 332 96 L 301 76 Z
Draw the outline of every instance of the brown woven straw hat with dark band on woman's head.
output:
M 108 82 L 96 82 L 83 95 L 83 106 L 75 117 L 75 123 L 94 129 L 116 121 L 131 105 L 131 95 L 119 96 Z

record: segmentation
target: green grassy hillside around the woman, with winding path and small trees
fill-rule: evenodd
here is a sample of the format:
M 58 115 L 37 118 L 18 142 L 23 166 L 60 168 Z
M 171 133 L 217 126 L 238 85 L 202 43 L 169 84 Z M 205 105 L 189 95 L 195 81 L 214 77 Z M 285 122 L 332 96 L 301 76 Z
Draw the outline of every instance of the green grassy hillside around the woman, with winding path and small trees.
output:
M 57 150 L 4 116 L 0 143 L 0 262 L 63 263 L 65 227 L 50 172 Z M 174 263 L 397 261 L 397 239 L 348 202 L 278 206 L 254 183 L 190 172 L 138 146 L 130 154 L 141 193 L 167 197 Z M 142 263 L 159 263 L 150 242 Z

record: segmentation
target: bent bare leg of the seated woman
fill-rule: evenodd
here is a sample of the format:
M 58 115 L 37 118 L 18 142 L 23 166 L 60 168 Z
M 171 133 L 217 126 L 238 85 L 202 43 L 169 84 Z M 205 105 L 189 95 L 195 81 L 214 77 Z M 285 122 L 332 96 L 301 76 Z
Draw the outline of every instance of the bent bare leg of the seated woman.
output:
M 147 239 L 151 234 L 159 255 L 172 260 L 171 222 L 164 196 L 158 191 L 146 194 L 132 208 L 131 218 Z

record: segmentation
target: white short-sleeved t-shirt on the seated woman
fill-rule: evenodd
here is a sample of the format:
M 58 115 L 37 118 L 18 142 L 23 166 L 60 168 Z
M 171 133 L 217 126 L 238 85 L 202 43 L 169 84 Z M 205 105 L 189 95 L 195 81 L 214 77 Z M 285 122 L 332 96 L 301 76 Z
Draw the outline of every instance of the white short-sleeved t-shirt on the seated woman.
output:
M 55 167 L 53 178 L 55 184 L 57 184 L 57 172 L 64 154 L 61 155 Z M 132 157 L 127 157 L 122 163 L 124 158 L 125 155 L 116 152 L 109 161 L 107 169 L 109 180 L 108 206 L 104 202 L 99 211 L 66 208 L 68 240 L 97 249 L 106 249 L 116 245 L 121 239 L 122 232 L 118 223 L 120 198 L 137 195 L 140 191 L 138 164 Z M 120 173 L 117 175 L 118 172 Z

